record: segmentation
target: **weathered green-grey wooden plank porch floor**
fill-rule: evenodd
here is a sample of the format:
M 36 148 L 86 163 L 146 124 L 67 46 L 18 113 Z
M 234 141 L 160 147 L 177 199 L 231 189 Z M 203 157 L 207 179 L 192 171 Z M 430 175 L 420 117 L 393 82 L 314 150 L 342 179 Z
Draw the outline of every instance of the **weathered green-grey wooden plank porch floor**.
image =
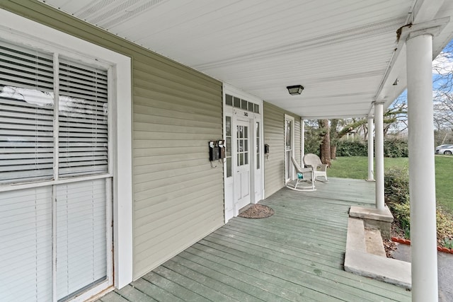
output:
M 411 301 L 411 292 L 343 270 L 348 210 L 374 183 L 331 178 L 284 188 L 267 219 L 236 217 L 153 272 L 98 301 Z

